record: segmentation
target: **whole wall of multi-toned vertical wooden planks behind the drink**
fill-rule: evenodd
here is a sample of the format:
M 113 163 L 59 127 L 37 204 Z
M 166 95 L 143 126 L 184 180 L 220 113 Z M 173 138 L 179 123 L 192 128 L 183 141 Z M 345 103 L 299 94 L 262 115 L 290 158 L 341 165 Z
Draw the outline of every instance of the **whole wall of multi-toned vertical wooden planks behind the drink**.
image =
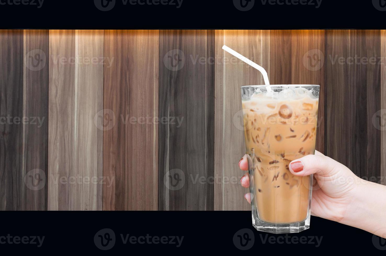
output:
M 0 118 L 41 120 L 0 122 L 0 210 L 250 210 L 240 86 L 263 79 L 223 44 L 271 84 L 320 84 L 317 150 L 386 184 L 385 30 L 1 30 L 0 43 Z

